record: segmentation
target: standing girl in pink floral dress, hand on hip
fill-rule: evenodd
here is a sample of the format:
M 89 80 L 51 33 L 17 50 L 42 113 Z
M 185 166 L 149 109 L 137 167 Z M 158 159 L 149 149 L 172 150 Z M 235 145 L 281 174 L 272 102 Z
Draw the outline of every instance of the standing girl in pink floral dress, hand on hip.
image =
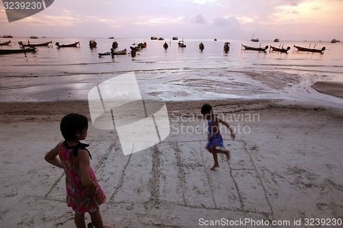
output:
M 93 226 L 103 228 L 99 205 L 104 203 L 106 196 L 90 166 L 91 153 L 86 149 L 88 144 L 80 142 L 87 136 L 88 120 L 80 114 L 69 114 L 62 118 L 60 130 L 64 142 L 51 149 L 45 155 L 45 160 L 64 169 L 67 205 L 75 211 L 76 227 L 86 228 L 84 213 L 88 212 Z

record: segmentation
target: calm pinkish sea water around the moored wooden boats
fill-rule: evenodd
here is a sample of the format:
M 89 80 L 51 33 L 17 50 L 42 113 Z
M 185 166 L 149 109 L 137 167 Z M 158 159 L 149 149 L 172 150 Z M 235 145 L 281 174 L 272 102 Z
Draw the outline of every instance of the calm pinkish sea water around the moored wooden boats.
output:
M 0 55 L 0 101 L 58 101 L 86 100 L 94 86 L 123 73 L 134 72 L 143 97 L 158 97 L 167 101 L 230 98 L 289 98 L 297 94 L 318 98 L 307 88 L 315 81 L 343 81 L 343 42 L 287 41 L 277 43 L 261 40 L 187 40 L 179 48 L 176 40 L 163 49 L 165 41 L 150 38 L 116 38 L 119 47 L 127 49 L 132 43 L 147 42 L 147 48 L 130 55 L 104 56 L 114 40 L 95 38 L 97 47 L 91 49 L 93 38 L 39 38 L 31 43 L 52 40 L 49 47 L 38 47 L 36 53 Z M 0 38 L 0 42 L 8 39 Z M 19 48 L 12 38 L 12 46 Z M 56 42 L 70 44 L 80 41 L 80 47 L 56 48 Z M 198 49 L 202 41 L 204 51 Z M 224 42 L 230 51 L 224 53 Z M 247 51 L 241 44 L 252 47 L 273 45 L 291 47 L 288 53 L 276 51 Z M 324 53 L 296 51 L 301 47 L 326 47 Z M 302 92 L 301 90 L 307 90 Z M 310 94 L 310 95 L 309 95 Z M 317 97 L 316 97 L 317 96 Z M 293 97 L 294 98 L 294 97 Z M 321 98 L 327 99 L 327 97 Z M 341 99 L 342 100 L 342 99 Z M 335 101 L 342 102 L 339 99 Z

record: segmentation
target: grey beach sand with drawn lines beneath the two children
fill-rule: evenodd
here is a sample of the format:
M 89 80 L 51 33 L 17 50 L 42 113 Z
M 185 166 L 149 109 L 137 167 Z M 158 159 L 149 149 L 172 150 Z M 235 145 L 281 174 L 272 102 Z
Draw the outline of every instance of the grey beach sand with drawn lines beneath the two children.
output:
M 219 155 L 216 170 L 204 149 L 206 123 L 194 117 L 204 102 L 237 130 L 235 140 L 222 131 L 231 158 Z M 90 122 L 84 142 L 106 193 L 105 224 L 204 227 L 246 219 L 225 227 L 295 227 L 296 219 L 305 227 L 306 218 L 343 218 L 342 109 L 267 99 L 178 101 L 167 109 L 169 136 L 132 155 L 119 151 L 115 132 Z M 74 227 L 63 170 L 44 160 L 70 112 L 90 117 L 86 101 L 0 103 L 0 227 Z

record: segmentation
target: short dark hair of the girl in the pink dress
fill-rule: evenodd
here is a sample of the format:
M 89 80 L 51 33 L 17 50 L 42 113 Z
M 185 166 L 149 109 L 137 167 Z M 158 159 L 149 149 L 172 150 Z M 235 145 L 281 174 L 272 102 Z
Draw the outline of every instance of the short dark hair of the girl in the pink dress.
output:
M 60 130 L 65 140 L 73 140 L 77 131 L 83 131 L 88 128 L 88 119 L 81 114 L 68 114 L 62 118 Z

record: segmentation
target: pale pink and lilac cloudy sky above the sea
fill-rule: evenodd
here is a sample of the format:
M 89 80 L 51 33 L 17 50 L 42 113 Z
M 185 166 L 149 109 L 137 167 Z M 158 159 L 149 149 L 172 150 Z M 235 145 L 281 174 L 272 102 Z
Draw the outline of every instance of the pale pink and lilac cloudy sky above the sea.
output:
M 55 0 L 0 36 L 343 41 L 343 0 Z

